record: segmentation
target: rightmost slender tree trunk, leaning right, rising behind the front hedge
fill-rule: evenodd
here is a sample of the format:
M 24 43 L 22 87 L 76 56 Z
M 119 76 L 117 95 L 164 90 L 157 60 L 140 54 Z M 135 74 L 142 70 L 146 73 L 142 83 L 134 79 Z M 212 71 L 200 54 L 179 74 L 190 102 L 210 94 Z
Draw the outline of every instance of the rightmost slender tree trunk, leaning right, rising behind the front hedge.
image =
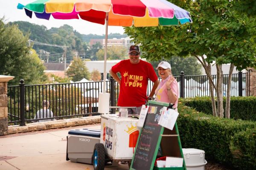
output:
M 232 80 L 232 73 L 234 70 L 234 65 L 230 64 L 230 71 L 228 74 L 227 79 L 227 89 L 226 89 L 226 108 L 225 108 L 225 117 L 230 119 L 230 91 L 231 91 L 231 80 Z

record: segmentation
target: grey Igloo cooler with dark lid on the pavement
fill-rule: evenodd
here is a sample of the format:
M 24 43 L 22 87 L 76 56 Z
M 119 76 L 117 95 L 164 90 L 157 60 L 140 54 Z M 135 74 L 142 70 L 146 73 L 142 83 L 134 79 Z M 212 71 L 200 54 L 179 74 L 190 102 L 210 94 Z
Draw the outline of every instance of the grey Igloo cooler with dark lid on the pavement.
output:
M 100 142 L 100 130 L 70 130 L 67 136 L 66 160 L 92 164 L 93 149 Z

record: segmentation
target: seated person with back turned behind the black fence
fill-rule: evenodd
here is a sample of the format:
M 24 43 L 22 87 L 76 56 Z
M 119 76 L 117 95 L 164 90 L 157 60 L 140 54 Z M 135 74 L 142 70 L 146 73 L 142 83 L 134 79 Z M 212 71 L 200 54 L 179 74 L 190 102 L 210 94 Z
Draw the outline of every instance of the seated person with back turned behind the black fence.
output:
M 38 110 L 34 119 L 42 119 L 42 118 L 50 118 L 50 117 L 53 117 L 53 113 L 52 111 L 50 111 L 48 109 L 49 107 L 49 102 L 47 100 L 44 100 L 42 102 L 42 109 L 41 110 Z M 55 120 L 55 119 L 44 119 L 44 120 L 35 120 L 33 122 L 45 122 L 45 121 L 50 121 L 50 120 Z

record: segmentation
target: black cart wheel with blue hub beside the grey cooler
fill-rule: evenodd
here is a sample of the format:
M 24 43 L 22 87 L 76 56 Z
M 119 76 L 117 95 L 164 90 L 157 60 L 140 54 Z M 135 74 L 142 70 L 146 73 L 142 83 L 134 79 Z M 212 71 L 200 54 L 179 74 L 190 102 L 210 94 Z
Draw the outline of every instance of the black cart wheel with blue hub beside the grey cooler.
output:
M 94 170 L 104 170 L 105 167 L 105 148 L 102 143 L 96 143 L 93 150 Z

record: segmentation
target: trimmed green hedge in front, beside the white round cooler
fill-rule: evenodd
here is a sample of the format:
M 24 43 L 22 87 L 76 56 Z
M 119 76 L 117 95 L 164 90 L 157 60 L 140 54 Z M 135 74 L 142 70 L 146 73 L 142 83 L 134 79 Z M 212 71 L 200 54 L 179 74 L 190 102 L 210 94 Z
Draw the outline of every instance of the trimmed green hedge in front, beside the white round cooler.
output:
M 181 102 L 178 112 L 177 125 L 183 148 L 204 150 L 207 160 L 239 170 L 256 169 L 256 122 L 221 119 L 195 111 Z

